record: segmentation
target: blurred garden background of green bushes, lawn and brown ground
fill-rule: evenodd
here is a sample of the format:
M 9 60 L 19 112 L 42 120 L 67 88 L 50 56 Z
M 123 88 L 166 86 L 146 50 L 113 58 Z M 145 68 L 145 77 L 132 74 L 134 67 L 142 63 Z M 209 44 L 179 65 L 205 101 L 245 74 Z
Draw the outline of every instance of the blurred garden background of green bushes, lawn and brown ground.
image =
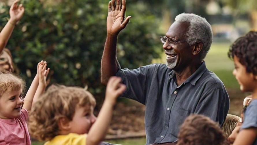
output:
M 14 0 L 0 0 L 0 30 L 7 23 Z M 105 87 L 100 84 L 100 60 L 106 39 L 107 0 L 21 0 L 25 14 L 8 42 L 16 72 L 30 86 L 40 60 L 50 67 L 50 84 L 85 87 L 96 97 L 98 113 Z M 211 23 L 213 43 L 205 61 L 223 82 L 230 96 L 230 114 L 240 115 L 242 93 L 232 75 L 227 56 L 232 42 L 249 30 L 257 30 L 256 0 L 127 0 L 126 15 L 132 18 L 118 38 L 122 68 L 135 69 L 165 63 L 159 36 L 165 35 L 176 15 L 203 16 Z M 119 99 L 108 142 L 145 144 L 144 106 Z M 141 138 L 130 138 L 141 137 Z M 118 139 L 117 138 L 123 138 Z M 128 139 L 127 139 L 128 138 Z M 33 144 L 43 144 L 33 142 Z

